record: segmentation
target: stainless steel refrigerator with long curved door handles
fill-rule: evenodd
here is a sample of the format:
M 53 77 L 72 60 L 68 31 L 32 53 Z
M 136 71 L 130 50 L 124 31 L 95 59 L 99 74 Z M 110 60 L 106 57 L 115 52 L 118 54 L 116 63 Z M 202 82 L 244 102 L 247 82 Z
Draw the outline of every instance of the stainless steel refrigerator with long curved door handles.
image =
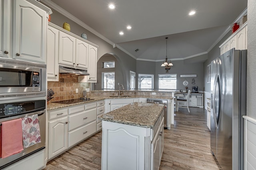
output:
M 211 63 L 211 151 L 223 170 L 243 170 L 247 51 L 231 49 Z

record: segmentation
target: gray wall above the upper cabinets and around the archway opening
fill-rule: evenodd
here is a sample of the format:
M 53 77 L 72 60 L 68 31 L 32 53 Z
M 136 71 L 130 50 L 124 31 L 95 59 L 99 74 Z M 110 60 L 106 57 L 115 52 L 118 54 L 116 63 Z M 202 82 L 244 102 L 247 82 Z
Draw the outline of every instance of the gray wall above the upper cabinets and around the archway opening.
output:
M 114 55 L 117 59 L 117 61 L 122 66 L 122 74 L 124 77 L 124 88 L 129 89 L 128 83 L 129 83 L 129 70 L 132 70 L 136 72 L 136 60 L 123 51 L 121 51 L 118 48 L 113 48 L 112 45 L 104 41 L 103 39 L 99 38 L 98 36 L 94 35 L 87 29 L 84 29 L 84 27 L 78 25 L 74 21 L 68 19 L 66 16 L 63 16 L 59 12 L 52 9 L 51 14 L 51 22 L 55 25 L 58 25 L 59 27 L 62 27 L 64 22 L 67 22 L 70 24 L 70 32 L 80 36 L 82 33 L 86 33 L 87 40 L 98 45 L 98 52 L 97 52 L 97 59 L 99 60 L 100 57 L 103 55 L 110 53 Z M 94 87 L 94 86 L 93 86 Z

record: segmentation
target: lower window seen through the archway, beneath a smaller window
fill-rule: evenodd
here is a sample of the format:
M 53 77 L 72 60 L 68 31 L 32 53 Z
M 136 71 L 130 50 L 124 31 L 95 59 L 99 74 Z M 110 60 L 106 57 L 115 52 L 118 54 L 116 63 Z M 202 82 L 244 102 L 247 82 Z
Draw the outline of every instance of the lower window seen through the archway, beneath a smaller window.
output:
M 115 90 L 115 72 L 102 72 L 102 90 Z

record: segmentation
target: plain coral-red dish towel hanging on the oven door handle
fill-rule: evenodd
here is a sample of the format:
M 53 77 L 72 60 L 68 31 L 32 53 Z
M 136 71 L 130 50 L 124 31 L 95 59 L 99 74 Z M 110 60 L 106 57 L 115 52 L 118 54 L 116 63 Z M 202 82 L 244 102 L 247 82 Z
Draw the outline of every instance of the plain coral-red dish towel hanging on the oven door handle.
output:
M 23 150 L 22 119 L 2 122 L 2 158 Z

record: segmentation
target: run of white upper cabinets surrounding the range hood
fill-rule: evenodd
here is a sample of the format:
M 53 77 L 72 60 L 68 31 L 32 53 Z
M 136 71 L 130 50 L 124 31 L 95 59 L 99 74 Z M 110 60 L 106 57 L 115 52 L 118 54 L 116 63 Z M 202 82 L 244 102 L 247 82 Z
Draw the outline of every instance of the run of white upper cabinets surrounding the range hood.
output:
M 47 64 L 52 65 L 51 68 L 47 68 L 48 81 L 58 81 L 58 70 L 54 71 L 54 69 L 63 65 L 87 69 L 90 76 L 82 76 L 83 81 L 97 82 L 98 46 L 53 23 L 49 22 L 48 27 L 48 34 L 50 35 L 47 35 Z

